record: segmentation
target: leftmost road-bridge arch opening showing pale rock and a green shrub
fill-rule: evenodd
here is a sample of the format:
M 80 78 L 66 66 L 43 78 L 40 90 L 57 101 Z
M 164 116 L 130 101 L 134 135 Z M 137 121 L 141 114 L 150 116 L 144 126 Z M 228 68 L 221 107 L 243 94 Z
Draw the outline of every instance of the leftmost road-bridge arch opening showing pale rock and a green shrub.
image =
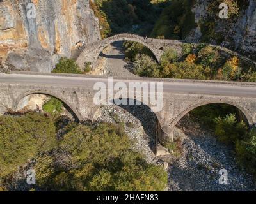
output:
M 68 103 L 63 101 L 63 99 L 53 96 L 52 94 L 43 92 L 29 93 L 21 96 L 18 99 L 15 108 L 16 112 L 21 110 L 32 110 L 38 112 L 47 112 L 50 114 L 60 113 L 68 115 L 68 117 L 72 117 L 76 122 L 79 122 L 77 113 L 70 108 Z

